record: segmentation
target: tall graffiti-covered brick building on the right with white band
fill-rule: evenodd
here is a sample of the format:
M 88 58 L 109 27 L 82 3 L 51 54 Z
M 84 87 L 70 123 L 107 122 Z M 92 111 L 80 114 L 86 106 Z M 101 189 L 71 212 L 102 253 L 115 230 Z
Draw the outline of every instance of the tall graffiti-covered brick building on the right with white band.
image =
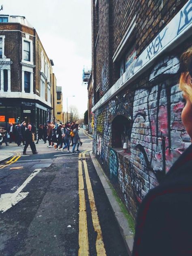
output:
M 191 40 L 192 0 L 92 0 L 93 151 L 134 218 L 190 144 L 178 80 Z

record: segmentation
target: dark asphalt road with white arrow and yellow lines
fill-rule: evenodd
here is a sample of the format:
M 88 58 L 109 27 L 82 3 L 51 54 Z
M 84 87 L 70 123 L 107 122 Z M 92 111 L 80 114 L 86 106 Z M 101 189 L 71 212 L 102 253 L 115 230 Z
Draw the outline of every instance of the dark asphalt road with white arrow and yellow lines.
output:
M 75 155 L 40 141 L 37 155 L 29 147 L 20 156 L 10 145 L 15 158 L 0 166 L 0 255 L 128 255 L 89 155 L 92 141 L 79 135 Z

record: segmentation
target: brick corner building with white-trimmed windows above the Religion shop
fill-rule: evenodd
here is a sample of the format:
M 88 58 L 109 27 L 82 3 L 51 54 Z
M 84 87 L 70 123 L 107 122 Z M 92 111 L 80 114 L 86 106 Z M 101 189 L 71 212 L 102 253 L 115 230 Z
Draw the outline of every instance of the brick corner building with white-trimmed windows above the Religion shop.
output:
M 53 61 L 25 17 L 0 15 L 0 120 L 32 122 L 53 119 Z

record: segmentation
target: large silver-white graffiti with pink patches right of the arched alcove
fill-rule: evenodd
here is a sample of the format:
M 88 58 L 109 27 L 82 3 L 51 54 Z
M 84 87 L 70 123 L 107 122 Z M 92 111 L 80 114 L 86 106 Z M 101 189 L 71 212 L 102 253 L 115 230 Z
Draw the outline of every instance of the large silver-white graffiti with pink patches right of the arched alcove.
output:
M 149 79 L 154 82 L 160 74 L 175 74 L 178 69 L 177 58 L 165 58 L 154 67 Z M 137 184 L 137 179 L 132 184 L 138 201 L 165 176 L 189 142 L 181 122 L 182 100 L 178 85 L 171 86 L 169 80 L 168 84 L 135 91 L 130 172 L 136 173 L 138 180 L 145 177 L 143 191 L 138 190 L 141 183 Z

